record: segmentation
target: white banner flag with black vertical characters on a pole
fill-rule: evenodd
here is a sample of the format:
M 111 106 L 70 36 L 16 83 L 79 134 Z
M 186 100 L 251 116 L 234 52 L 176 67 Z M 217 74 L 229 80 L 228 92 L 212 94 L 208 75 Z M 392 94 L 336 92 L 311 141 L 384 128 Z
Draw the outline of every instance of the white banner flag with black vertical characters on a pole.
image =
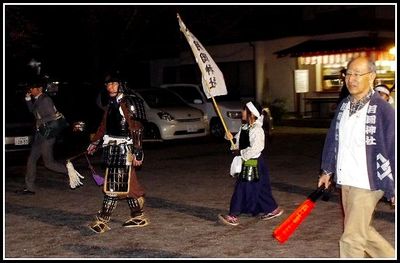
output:
M 179 27 L 192 48 L 196 62 L 199 65 L 202 75 L 203 90 L 207 98 L 228 94 L 221 70 L 199 40 L 186 28 L 179 14 L 177 14 L 177 17 Z

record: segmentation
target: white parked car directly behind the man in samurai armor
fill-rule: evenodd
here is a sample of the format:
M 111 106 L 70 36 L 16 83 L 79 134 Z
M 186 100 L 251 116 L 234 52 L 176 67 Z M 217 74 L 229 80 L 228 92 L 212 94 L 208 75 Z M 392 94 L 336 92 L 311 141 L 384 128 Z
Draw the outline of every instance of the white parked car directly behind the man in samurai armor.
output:
M 175 93 L 160 88 L 133 90 L 144 101 L 148 123 L 144 139 L 173 140 L 206 136 L 206 119 L 201 110 L 186 104 Z

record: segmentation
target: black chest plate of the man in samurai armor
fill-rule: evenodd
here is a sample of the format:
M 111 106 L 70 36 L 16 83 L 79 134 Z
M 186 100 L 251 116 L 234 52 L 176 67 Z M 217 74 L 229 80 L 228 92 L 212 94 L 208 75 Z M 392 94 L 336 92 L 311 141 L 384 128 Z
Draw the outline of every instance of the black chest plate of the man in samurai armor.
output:
M 128 136 L 128 123 L 119 111 L 119 103 L 112 99 L 108 106 L 106 134 L 114 136 Z

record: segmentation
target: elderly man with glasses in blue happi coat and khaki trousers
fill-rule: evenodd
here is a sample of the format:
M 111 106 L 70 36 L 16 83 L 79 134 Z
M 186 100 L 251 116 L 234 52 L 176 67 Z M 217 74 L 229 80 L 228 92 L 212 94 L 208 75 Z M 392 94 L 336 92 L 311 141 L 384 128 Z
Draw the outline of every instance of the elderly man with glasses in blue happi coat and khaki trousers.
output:
M 350 96 L 338 105 L 325 139 L 318 186 L 331 177 L 341 188 L 344 231 L 341 258 L 395 256 L 393 246 L 373 227 L 378 201 L 395 196 L 395 113 L 373 90 L 375 64 L 366 57 L 348 63 Z

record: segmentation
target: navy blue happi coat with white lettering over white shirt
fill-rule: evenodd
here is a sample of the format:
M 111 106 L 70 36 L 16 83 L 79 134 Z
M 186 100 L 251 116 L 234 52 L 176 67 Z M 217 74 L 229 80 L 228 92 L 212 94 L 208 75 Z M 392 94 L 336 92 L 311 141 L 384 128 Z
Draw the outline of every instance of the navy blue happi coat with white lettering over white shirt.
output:
M 349 98 L 338 105 L 322 152 L 321 169 L 336 172 L 339 147 L 339 124 Z M 375 92 L 371 96 L 365 121 L 365 146 L 371 190 L 382 190 L 390 199 L 395 195 L 395 112 Z M 335 181 L 336 181 L 335 176 Z

